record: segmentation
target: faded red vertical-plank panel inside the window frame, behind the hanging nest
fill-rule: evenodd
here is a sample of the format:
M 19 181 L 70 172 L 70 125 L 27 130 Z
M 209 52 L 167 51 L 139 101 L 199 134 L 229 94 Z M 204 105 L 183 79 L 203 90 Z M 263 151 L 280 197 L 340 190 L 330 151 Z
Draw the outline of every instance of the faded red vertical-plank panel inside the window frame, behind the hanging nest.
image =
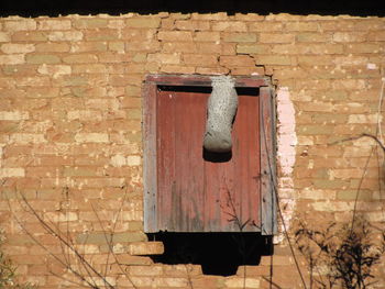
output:
M 157 229 L 239 232 L 246 223 L 242 231 L 260 231 L 260 98 L 240 96 L 232 155 L 218 162 L 202 149 L 208 97 L 196 89 L 157 92 Z

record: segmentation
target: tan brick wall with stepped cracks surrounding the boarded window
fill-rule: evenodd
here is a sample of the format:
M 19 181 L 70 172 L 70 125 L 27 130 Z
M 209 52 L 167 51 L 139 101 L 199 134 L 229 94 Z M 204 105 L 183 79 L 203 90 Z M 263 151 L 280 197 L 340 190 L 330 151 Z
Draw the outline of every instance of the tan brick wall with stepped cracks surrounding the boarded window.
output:
M 279 196 L 292 232 L 295 219 L 316 226 L 350 220 L 358 188 L 358 211 L 372 222 L 384 221 L 384 155 L 375 142 L 330 145 L 376 133 L 384 114 L 378 110 L 384 62 L 385 19 L 374 16 L 163 12 L 0 19 L 4 249 L 22 279 L 44 289 L 79 288 L 36 245 L 66 256 L 57 238 L 24 210 L 24 196 L 94 267 L 103 271 L 111 264 L 108 280 L 119 288 L 132 282 L 136 288 L 270 288 L 272 263 L 275 285 L 299 288 L 282 234 L 273 258 L 263 256 L 258 266 L 239 268 L 231 277 L 142 256 L 162 251 L 143 233 L 142 81 L 148 73 L 273 77 Z M 112 231 L 114 256 L 103 234 Z M 385 267 L 377 266 L 375 275 L 373 287 L 385 288 Z

